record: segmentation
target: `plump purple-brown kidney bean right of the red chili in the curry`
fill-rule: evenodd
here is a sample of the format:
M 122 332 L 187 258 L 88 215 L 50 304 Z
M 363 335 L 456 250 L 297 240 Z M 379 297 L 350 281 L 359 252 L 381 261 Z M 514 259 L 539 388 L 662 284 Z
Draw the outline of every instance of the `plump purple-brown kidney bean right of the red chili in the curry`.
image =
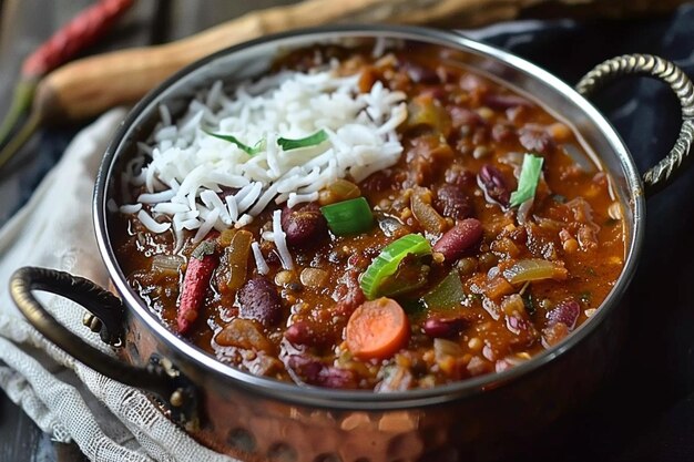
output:
M 238 316 L 273 326 L 282 319 L 282 299 L 275 285 L 265 277 L 251 279 L 238 289 Z

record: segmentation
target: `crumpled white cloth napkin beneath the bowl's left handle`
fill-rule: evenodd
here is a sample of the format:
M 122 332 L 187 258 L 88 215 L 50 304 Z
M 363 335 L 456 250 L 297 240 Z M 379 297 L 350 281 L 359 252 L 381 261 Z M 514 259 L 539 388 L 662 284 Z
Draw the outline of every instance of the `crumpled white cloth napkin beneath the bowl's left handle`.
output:
M 0 387 L 57 441 L 74 441 L 98 462 L 233 462 L 203 448 L 140 391 L 108 379 L 48 342 L 19 314 L 8 291 L 21 266 L 44 266 L 105 286 L 91 216 L 96 170 L 125 115 L 104 114 L 70 144 L 30 202 L 0 230 Z M 92 345 L 108 349 L 81 324 L 84 309 L 42 296 L 49 311 Z

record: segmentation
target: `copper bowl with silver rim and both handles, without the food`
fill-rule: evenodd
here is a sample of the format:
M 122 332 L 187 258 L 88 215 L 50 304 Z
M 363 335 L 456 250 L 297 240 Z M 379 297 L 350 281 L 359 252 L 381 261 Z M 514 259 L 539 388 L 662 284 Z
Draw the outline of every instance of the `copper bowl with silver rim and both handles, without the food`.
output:
M 521 93 L 534 95 L 601 154 L 623 205 L 624 270 L 596 314 L 560 345 L 499 373 L 391 393 L 298 387 L 252 376 L 217 361 L 160 322 L 127 285 L 111 244 L 106 203 L 115 174 L 159 119 L 165 102 L 176 114 L 198 89 L 217 79 L 245 80 L 266 72 L 278 52 L 318 42 L 376 38 L 426 42 L 462 53 L 463 64 Z M 680 140 L 643 181 L 620 136 L 585 99 L 623 74 L 645 74 L 671 85 L 683 107 Z M 12 296 L 45 337 L 94 370 L 146 390 L 164 412 L 198 441 L 245 461 L 386 462 L 471 461 L 509 454 L 559 415 L 585 402 L 619 353 L 621 300 L 636 268 L 644 233 L 645 193 L 663 187 L 688 153 L 694 133 L 694 88 L 673 64 L 655 57 L 610 60 L 572 89 L 547 71 L 456 32 L 406 27 L 330 27 L 254 40 L 212 54 L 145 96 L 109 146 L 96 179 L 93 211 L 101 256 L 120 298 L 71 275 L 22 268 Z M 112 345 L 106 356 L 58 322 L 32 290 L 48 290 L 88 308 L 85 321 Z

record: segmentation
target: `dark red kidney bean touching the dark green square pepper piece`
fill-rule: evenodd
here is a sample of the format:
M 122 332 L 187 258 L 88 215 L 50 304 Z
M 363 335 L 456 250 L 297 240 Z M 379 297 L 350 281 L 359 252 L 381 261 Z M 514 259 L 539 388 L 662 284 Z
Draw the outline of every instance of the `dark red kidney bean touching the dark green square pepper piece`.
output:
M 288 245 L 308 247 L 327 237 L 328 223 L 318 205 L 310 203 L 303 207 L 285 207 L 282 211 L 282 229 Z

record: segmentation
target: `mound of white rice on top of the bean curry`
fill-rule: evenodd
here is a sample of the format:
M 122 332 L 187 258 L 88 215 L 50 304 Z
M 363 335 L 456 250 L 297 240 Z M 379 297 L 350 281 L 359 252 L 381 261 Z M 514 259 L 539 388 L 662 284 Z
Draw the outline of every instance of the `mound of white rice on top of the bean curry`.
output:
M 289 207 L 313 202 L 337 178 L 360 182 L 392 166 L 402 153 L 396 129 L 407 119 L 405 94 L 380 82 L 359 93 L 359 75 L 337 76 L 334 68 L 283 71 L 245 82 L 229 95 L 218 81 L 178 121 L 160 106 L 161 122 L 125 168 L 121 213 L 139 214 L 153 233 L 173 229 L 178 245 L 183 229 L 196 230 L 200 242 L 213 228 L 249 224 L 271 201 Z M 320 130 L 328 140 L 319 145 L 285 152 L 277 144 L 278 137 L 303 138 Z M 247 146 L 264 140 L 264 148 L 249 155 L 206 132 Z M 132 186 L 143 185 L 145 193 L 129 197 Z M 218 194 L 231 189 L 236 192 Z M 275 243 L 283 243 L 282 229 L 273 232 Z

